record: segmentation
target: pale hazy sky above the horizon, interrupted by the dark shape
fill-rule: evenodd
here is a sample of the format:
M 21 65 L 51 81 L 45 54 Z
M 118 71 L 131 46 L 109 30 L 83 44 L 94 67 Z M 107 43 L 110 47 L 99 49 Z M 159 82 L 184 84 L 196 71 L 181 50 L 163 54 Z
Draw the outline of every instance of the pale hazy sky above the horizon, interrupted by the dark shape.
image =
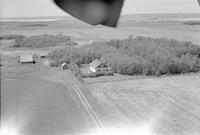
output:
M 197 0 L 126 0 L 128 13 L 200 13 Z M 0 17 L 67 15 L 52 0 L 0 0 Z

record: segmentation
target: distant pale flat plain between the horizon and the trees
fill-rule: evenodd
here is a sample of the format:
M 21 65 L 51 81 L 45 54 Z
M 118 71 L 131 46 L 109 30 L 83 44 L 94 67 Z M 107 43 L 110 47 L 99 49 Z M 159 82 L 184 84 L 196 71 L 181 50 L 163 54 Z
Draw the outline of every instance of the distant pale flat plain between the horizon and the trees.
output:
M 30 20 L 31 18 L 29 18 Z M 42 19 L 42 18 L 40 18 Z M 175 38 L 181 41 L 192 41 L 200 45 L 200 27 L 185 25 L 185 21 L 199 21 L 200 14 L 149 14 L 122 16 L 116 29 L 103 26 L 93 27 L 72 17 L 52 18 L 47 21 L 36 19 L 28 21 L 0 22 L 1 35 L 22 34 L 26 36 L 36 34 L 66 34 L 73 35 L 79 41 L 107 40 L 110 38 L 124 38 L 128 35 L 144 35 L 151 37 Z M 45 25 L 45 27 L 36 24 Z M 20 27 L 34 26 L 34 27 Z M 35 27 L 36 26 L 36 27 Z

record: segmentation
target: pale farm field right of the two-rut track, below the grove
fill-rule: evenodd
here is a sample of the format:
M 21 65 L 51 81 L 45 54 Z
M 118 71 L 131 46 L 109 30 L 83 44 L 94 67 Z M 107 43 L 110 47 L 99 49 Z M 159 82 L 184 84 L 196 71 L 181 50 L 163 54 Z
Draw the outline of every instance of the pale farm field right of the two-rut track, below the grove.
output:
M 104 82 L 84 93 L 114 133 L 198 135 L 199 82 L 200 74 Z

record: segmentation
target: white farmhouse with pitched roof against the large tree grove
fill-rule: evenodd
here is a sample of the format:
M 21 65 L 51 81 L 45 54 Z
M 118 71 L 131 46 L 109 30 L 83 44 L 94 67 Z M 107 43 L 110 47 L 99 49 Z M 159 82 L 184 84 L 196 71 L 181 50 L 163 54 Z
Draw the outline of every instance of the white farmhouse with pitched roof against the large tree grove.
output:
M 103 72 L 103 71 L 110 71 L 111 68 L 108 67 L 105 63 L 102 63 L 100 60 L 96 59 L 92 63 L 90 63 L 90 70 L 92 72 Z

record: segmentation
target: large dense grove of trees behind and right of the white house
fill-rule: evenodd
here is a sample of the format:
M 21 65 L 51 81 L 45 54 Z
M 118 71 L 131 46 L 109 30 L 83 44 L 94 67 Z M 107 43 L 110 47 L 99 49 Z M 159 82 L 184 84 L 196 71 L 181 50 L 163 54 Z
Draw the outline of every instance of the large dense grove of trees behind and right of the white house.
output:
M 101 59 L 123 75 L 159 76 L 200 70 L 199 46 L 165 38 L 130 36 L 122 40 L 94 42 L 81 48 L 66 47 L 54 50 L 49 56 L 58 64 L 73 62 L 81 65 Z

